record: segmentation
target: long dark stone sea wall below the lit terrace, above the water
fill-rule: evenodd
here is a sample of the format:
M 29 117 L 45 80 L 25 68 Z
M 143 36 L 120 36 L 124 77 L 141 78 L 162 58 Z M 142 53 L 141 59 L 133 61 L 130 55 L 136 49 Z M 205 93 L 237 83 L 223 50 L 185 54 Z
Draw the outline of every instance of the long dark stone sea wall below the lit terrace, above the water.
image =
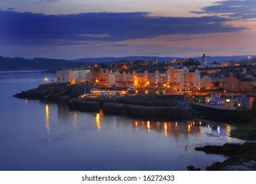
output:
M 188 106 L 183 95 L 124 96 L 117 99 L 78 98 L 70 101 L 70 109 L 94 111 L 103 109 L 104 114 L 127 116 L 186 118 Z M 97 102 L 97 108 L 95 108 Z M 90 109 L 91 108 L 91 109 Z

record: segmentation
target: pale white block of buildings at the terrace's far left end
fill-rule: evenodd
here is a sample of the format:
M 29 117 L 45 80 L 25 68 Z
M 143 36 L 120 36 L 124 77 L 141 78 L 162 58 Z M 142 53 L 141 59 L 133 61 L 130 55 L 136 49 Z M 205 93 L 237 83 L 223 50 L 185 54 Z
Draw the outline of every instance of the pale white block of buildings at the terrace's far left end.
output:
M 80 70 L 78 68 L 57 70 L 57 83 L 86 83 L 90 78 L 90 70 Z

